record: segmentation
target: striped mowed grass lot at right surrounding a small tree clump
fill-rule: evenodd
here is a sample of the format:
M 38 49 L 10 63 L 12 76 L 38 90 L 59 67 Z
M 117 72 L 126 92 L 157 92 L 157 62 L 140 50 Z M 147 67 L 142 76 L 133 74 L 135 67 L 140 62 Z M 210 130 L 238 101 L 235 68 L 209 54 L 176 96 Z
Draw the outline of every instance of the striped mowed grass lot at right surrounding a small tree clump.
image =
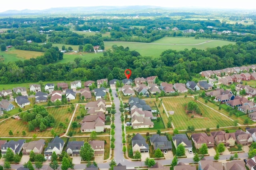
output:
M 202 117 L 191 118 L 191 114 L 187 115 L 183 107 L 184 103 L 193 101 L 192 97 L 172 97 L 172 98 L 163 98 L 162 101 L 167 111 L 174 111 L 173 124 L 178 130 L 186 130 L 188 126 L 194 125 L 195 128 L 214 128 L 217 125 L 220 127 L 233 126 L 234 123 L 230 119 L 221 116 L 219 113 L 213 111 L 198 103 L 199 108 L 202 112 Z

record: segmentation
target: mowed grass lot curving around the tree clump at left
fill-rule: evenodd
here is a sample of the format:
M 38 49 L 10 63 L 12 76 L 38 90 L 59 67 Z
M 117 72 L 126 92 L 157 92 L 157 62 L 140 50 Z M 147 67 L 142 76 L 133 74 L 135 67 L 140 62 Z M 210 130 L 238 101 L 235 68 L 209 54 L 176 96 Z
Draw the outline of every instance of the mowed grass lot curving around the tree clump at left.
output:
M 51 108 L 46 108 L 46 110 L 49 112 L 49 114 L 53 115 L 54 119 L 55 119 L 55 123 L 54 123 L 54 131 L 56 132 L 56 134 L 64 134 L 64 131 L 66 131 L 66 129 L 63 129 L 62 127 L 59 126 L 60 122 L 64 123 L 64 125 L 66 126 L 66 128 L 68 127 L 68 123 L 72 117 L 71 113 L 68 113 L 68 106 L 62 106 L 62 107 L 51 107 Z M 68 120 L 68 122 L 66 121 L 66 119 Z M 13 135 L 10 136 L 9 135 L 9 130 L 12 130 Z M 15 119 L 8 119 L 2 123 L 0 123 L 0 134 L 1 136 L 4 137 L 23 137 L 22 136 L 22 130 L 26 131 L 26 136 L 25 137 L 32 137 L 33 134 L 36 134 L 37 137 L 51 137 L 51 128 L 48 128 L 48 130 L 45 130 L 43 132 L 28 132 L 28 126 L 26 123 L 20 121 L 17 121 Z M 17 134 L 17 132 L 19 132 Z

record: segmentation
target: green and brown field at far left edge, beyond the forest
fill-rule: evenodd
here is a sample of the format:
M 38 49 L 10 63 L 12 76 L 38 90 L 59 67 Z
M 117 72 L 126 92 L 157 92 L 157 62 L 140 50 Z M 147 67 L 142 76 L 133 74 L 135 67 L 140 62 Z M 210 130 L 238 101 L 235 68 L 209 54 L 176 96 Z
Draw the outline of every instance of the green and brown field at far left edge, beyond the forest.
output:
M 3 56 L 4 58 L 4 63 L 14 62 L 18 60 L 23 61 L 24 59 L 36 58 L 41 55 L 44 55 L 44 53 L 38 51 L 25 51 L 20 49 L 14 49 L 13 47 L 8 49 L 8 51 L 0 52 L 0 56 Z

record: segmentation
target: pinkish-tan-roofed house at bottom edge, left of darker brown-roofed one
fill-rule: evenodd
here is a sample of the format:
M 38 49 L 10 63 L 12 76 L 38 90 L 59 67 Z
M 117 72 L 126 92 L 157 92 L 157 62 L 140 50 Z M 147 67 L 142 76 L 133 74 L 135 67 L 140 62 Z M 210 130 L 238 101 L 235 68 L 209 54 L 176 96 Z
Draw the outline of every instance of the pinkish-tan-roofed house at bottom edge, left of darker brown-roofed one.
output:
M 202 159 L 198 162 L 198 170 L 223 170 L 222 162 Z

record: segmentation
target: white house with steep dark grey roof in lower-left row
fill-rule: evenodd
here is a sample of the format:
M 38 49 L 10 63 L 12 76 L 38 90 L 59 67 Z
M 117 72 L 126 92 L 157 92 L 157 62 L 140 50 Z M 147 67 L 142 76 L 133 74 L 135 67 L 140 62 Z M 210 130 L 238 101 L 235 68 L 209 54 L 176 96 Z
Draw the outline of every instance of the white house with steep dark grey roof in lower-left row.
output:
M 54 151 L 57 155 L 60 155 L 63 150 L 64 144 L 64 140 L 56 136 L 54 139 L 52 139 L 51 142 L 48 143 L 48 146 L 44 150 L 44 156 L 50 156 Z

